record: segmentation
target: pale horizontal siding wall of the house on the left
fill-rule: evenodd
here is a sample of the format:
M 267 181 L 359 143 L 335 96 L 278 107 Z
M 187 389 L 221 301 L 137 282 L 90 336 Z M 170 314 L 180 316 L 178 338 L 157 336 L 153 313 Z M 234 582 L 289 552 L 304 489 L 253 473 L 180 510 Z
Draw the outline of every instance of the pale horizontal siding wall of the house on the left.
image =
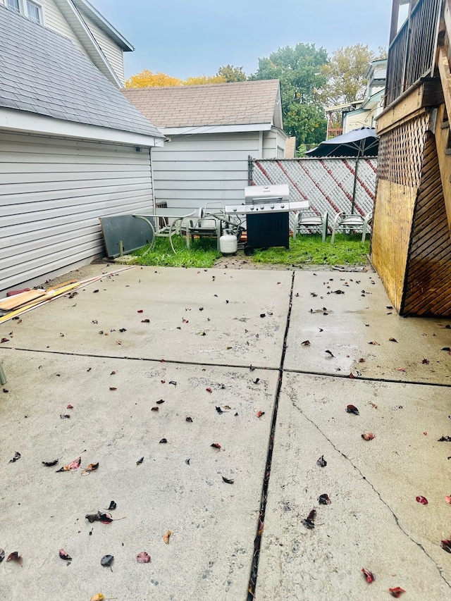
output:
M 0 291 L 103 255 L 99 217 L 152 204 L 149 149 L 0 132 Z

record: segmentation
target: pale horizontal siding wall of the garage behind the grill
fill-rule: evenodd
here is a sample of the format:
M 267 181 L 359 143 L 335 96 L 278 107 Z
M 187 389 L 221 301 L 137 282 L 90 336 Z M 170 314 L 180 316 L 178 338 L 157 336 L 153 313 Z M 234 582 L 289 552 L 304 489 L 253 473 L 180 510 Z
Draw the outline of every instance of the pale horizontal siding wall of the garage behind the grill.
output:
M 197 209 L 244 200 L 247 157 L 259 153 L 259 132 L 172 136 L 152 150 L 155 201 Z

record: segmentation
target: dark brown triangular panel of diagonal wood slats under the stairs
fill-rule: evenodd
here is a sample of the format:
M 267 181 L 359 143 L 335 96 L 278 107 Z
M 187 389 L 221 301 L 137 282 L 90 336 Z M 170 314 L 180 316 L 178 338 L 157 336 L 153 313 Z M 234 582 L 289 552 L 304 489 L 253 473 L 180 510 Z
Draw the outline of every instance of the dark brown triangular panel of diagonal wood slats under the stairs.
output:
M 402 314 L 451 315 L 451 240 L 435 138 L 428 133 L 414 211 Z

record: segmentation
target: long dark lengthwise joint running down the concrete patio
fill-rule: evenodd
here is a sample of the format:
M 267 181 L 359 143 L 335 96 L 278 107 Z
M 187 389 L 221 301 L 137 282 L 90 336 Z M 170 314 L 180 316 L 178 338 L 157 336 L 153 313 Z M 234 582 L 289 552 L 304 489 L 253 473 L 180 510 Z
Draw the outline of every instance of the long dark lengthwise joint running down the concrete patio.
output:
M 294 286 L 295 286 L 295 271 L 292 271 L 290 299 L 288 302 L 288 313 L 287 313 L 287 321 L 285 323 L 285 333 L 283 335 L 283 347 L 282 347 L 282 354 L 280 357 L 280 366 L 278 368 L 279 377 L 278 377 L 278 383 L 277 383 L 277 389 L 276 389 L 276 397 L 274 399 L 273 416 L 271 419 L 271 432 L 269 435 L 268 454 L 266 455 L 266 466 L 265 466 L 265 472 L 264 472 L 263 486 L 261 488 L 259 519 L 258 519 L 258 523 L 257 523 L 257 534 L 255 535 L 255 538 L 254 538 L 254 557 L 252 559 L 251 574 L 250 574 L 250 578 L 249 578 L 249 587 L 247 589 L 247 601 L 254 600 L 255 587 L 257 585 L 257 576 L 259 574 L 261 535 L 263 533 L 263 528 L 264 528 L 266 502 L 268 500 L 269 478 L 271 476 L 271 461 L 273 459 L 273 449 L 274 449 L 274 433 L 276 431 L 280 390 L 282 389 L 283 366 L 285 364 L 285 354 L 287 352 L 287 338 L 288 338 L 288 330 L 290 329 L 290 318 L 291 318 L 293 287 Z

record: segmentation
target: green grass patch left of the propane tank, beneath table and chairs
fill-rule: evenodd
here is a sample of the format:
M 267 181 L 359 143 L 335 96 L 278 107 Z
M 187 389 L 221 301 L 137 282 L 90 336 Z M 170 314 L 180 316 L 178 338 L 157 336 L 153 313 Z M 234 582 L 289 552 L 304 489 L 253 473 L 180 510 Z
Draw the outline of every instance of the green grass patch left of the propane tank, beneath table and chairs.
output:
M 151 252 L 149 245 L 132 252 L 136 265 L 157 265 L 164 267 L 213 267 L 221 253 L 216 250 L 216 240 L 199 238 L 186 247 L 184 236 L 173 236 L 175 254 L 168 238 L 157 237 Z

